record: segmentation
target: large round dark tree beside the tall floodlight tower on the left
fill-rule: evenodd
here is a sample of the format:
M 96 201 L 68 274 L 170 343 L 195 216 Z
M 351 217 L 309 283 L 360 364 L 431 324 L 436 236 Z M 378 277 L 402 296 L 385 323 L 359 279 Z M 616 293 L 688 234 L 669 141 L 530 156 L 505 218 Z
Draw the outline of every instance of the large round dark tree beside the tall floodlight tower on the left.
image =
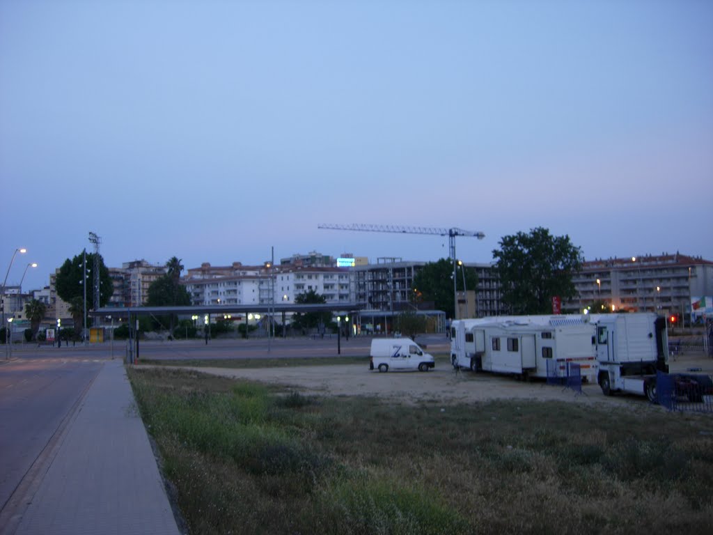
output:
M 87 285 L 87 307 L 88 310 L 96 310 L 99 307 L 106 305 L 111 299 L 114 292 L 114 283 L 109 275 L 109 270 L 104 265 L 104 259 L 99 255 L 99 302 L 94 302 L 93 281 L 94 277 L 91 270 L 94 268 L 94 253 L 87 253 L 87 270 L 86 270 L 86 285 Z M 84 297 L 84 288 L 82 281 L 84 280 L 83 254 L 80 253 L 72 260 L 68 258 L 59 268 L 55 287 L 57 295 L 63 301 L 71 303 L 74 297 Z

